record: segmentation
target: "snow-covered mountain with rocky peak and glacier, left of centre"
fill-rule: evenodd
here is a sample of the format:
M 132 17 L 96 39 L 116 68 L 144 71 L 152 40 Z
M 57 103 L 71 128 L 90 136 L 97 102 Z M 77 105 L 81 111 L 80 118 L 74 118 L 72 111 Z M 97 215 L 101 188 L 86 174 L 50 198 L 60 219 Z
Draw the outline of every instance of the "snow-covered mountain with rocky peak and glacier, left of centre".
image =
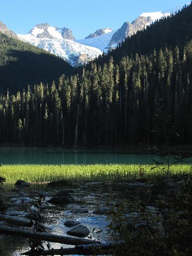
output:
M 18 34 L 18 37 L 65 59 L 72 66 L 86 64 L 102 54 L 97 48 L 74 41 L 71 30 L 52 27 L 47 23 L 36 25 L 27 35 Z

